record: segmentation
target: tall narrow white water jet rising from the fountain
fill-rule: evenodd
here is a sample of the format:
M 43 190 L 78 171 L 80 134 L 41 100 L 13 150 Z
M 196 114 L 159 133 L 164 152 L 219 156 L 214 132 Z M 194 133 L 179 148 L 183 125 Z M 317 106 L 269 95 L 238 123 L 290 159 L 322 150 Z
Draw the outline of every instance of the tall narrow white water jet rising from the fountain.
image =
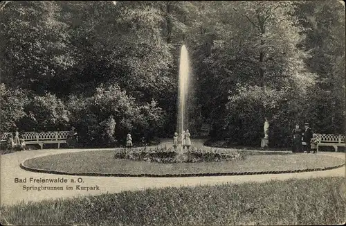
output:
M 178 131 L 179 134 L 183 134 L 185 126 L 187 125 L 187 94 L 189 89 L 189 59 L 188 59 L 188 49 L 186 46 L 181 46 L 180 62 L 179 62 L 179 96 L 178 96 Z M 183 136 L 181 136 L 180 150 L 183 152 Z

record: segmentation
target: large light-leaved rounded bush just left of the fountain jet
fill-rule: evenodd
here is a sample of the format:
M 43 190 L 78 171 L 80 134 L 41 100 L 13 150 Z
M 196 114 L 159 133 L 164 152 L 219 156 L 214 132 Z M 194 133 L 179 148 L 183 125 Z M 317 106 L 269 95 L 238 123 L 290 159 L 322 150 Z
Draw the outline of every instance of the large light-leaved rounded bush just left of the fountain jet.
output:
M 138 103 L 118 85 L 101 85 L 91 97 L 70 96 L 67 105 L 84 146 L 125 145 L 127 133 L 134 144 L 142 143 L 142 137 L 149 143 L 163 123 L 163 111 L 155 101 Z

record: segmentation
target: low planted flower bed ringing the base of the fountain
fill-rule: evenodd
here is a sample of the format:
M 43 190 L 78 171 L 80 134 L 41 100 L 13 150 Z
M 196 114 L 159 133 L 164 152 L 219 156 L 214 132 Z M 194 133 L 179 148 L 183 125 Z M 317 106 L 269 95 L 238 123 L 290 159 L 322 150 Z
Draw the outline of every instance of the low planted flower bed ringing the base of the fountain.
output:
M 152 150 L 143 148 L 140 150 L 117 150 L 114 158 L 131 159 L 135 161 L 158 162 L 158 163 L 182 163 L 182 162 L 218 162 L 229 160 L 244 160 L 246 155 L 233 151 L 232 153 L 217 153 L 216 150 L 194 149 L 185 153 L 178 153 L 172 149 Z

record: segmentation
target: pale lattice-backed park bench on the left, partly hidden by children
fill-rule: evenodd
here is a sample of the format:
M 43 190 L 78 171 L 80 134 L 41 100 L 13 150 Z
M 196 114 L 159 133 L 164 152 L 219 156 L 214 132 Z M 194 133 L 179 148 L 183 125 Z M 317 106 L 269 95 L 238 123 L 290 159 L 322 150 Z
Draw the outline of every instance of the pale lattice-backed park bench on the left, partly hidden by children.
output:
M 9 134 L 11 134 L 11 132 L 4 132 L 1 135 L 1 143 L 6 142 Z M 19 137 L 24 139 L 26 145 L 38 144 L 41 149 L 43 149 L 44 144 L 57 144 L 57 148 L 60 148 L 60 144 L 66 144 L 68 134 L 69 131 L 22 132 L 19 134 Z

